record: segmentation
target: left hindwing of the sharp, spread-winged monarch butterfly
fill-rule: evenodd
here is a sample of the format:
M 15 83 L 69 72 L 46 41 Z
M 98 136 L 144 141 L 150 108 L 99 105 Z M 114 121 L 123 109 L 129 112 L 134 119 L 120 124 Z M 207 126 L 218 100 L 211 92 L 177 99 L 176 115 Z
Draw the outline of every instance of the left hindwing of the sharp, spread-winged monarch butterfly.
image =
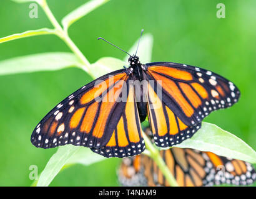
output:
M 137 155 L 145 149 L 140 127 L 139 113 L 135 102 L 134 86 L 129 86 L 126 107 L 106 146 L 92 148 L 93 152 L 105 157 L 126 157 Z

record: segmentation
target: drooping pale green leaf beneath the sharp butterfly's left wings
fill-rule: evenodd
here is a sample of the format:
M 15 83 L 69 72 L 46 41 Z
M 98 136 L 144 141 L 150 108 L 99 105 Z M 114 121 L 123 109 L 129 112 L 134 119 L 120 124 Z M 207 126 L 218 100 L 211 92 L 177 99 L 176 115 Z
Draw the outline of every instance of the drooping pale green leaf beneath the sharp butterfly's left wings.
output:
M 57 152 L 52 155 L 46 167 L 42 171 L 37 187 L 48 186 L 54 177 L 65 167 L 70 164 L 90 165 L 95 162 L 106 159 L 101 155 L 94 154 L 89 148 L 72 146 L 71 144 L 61 146 Z

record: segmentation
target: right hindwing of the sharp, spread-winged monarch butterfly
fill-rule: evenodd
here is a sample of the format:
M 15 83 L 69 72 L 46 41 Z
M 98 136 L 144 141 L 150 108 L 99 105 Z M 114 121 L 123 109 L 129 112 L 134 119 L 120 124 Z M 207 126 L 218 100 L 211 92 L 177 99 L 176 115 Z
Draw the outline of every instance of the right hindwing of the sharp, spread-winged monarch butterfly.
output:
M 159 147 L 179 144 L 193 136 L 201 123 L 194 126 L 185 125 L 180 118 L 162 101 L 149 84 L 147 89 L 149 123 L 154 142 Z

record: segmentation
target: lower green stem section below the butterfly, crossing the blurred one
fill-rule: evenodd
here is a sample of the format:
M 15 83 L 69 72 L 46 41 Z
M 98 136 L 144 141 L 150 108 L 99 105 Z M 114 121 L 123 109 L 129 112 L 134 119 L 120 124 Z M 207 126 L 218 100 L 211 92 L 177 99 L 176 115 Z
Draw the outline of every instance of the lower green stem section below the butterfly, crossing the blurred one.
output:
M 176 182 L 174 176 L 170 173 L 169 168 L 165 164 L 164 160 L 159 154 L 159 150 L 156 149 L 153 144 L 150 142 L 149 138 L 145 135 L 144 132 L 142 132 L 143 138 L 145 141 L 145 147 L 147 150 L 150 151 L 150 157 L 154 160 L 154 162 L 157 164 L 159 169 L 161 170 L 162 174 L 164 177 L 167 179 L 169 182 L 170 186 L 172 187 L 179 187 L 178 183 Z

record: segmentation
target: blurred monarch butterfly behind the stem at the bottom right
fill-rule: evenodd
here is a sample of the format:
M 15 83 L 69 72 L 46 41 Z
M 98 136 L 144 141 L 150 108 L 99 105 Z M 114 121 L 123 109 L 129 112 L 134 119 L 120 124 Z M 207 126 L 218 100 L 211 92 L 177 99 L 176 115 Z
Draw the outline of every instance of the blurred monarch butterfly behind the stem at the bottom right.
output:
M 212 152 L 173 147 L 160 150 L 160 155 L 182 187 L 249 185 L 256 179 L 254 167 L 248 162 Z M 169 186 L 155 162 L 144 154 L 122 159 L 118 174 L 124 186 Z

